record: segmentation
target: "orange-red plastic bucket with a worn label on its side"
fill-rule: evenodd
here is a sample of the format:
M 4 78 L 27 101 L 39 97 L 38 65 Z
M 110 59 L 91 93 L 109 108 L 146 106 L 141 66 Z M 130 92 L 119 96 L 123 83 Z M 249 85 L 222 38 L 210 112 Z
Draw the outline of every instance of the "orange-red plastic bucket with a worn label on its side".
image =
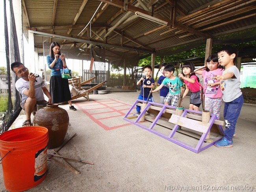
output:
M 0 135 L 4 185 L 19 192 L 37 186 L 46 177 L 48 129 L 20 127 Z M 7 154 L 8 153 L 8 154 Z

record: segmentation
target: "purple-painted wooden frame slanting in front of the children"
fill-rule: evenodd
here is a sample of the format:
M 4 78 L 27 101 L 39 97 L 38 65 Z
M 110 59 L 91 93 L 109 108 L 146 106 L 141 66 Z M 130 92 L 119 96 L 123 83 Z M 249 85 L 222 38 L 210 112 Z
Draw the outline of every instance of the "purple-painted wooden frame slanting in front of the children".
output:
M 134 122 L 134 121 L 128 119 L 127 117 L 128 117 L 128 115 L 130 114 L 130 112 L 134 109 L 135 105 L 136 105 L 138 102 L 143 103 L 143 100 L 136 100 L 136 101 L 135 101 L 135 103 L 132 105 L 132 107 L 130 108 L 130 110 L 125 114 L 124 120 L 126 120 L 126 121 L 128 121 L 128 122 L 130 122 L 130 123 L 132 123 L 132 124 L 134 124 L 134 125 L 136 125 L 136 126 L 138 126 L 138 127 L 141 127 L 141 128 L 143 128 L 143 129 L 145 129 L 145 130 L 151 132 L 151 133 L 154 133 L 155 135 L 158 135 L 158 136 L 160 136 L 160 137 L 162 137 L 162 138 L 165 138 L 166 140 L 169 140 L 169 141 L 171 141 L 171 142 L 173 142 L 173 143 L 175 143 L 175 144 L 178 144 L 179 146 L 182 146 L 182 147 L 184 147 L 184 148 L 186 148 L 186 149 L 188 149 L 188 150 L 190 150 L 190 151 L 193 151 L 193 152 L 195 152 L 195 153 L 199 153 L 200 151 L 203 151 L 203 150 L 209 148 L 209 147 L 212 146 L 215 142 L 221 140 L 221 138 L 223 137 L 223 136 L 216 137 L 215 139 L 213 139 L 212 142 L 207 142 L 207 144 L 206 144 L 204 147 L 202 147 L 202 144 L 204 143 L 204 140 L 206 139 L 206 136 L 208 135 L 208 133 L 209 133 L 209 131 L 210 131 L 210 129 L 211 129 L 211 126 L 212 126 L 213 123 L 214 123 L 214 120 L 217 120 L 217 116 L 216 116 L 215 114 L 210 114 L 211 118 L 210 118 L 210 120 L 209 120 L 209 122 L 208 122 L 208 123 L 210 124 L 210 126 L 209 126 L 209 128 L 208 128 L 208 130 L 207 130 L 206 133 L 202 133 L 202 136 L 200 137 L 200 139 L 199 139 L 199 141 L 198 141 L 196 147 L 193 147 L 193 146 L 191 146 L 191 145 L 189 145 L 189 144 L 186 144 L 185 142 L 182 142 L 182 141 L 180 141 L 180 140 L 177 140 L 177 139 L 174 139 L 174 138 L 173 138 L 174 134 L 176 133 L 176 131 L 177 131 L 178 127 L 179 127 L 177 124 L 175 124 L 175 126 L 173 127 L 173 130 L 171 131 L 171 133 L 170 133 L 169 136 L 167 137 L 167 136 L 165 136 L 165 135 L 163 135 L 163 134 L 161 134 L 161 133 L 155 131 L 155 130 L 152 129 L 152 128 L 154 127 L 154 125 L 156 124 L 156 122 L 159 120 L 159 118 L 161 117 L 161 115 L 163 114 L 163 112 L 165 111 L 165 109 L 174 109 L 174 110 L 175 110 L 176 107 L 170 106 L 170 105 L 163 105 L 163 104 L 160 104 L 160 103 L 148 102 L 147 105 L 146 105 L 146 107 L 141 111 L 141 114 L 137 117 L 137 119 L 136 119 L 135 122 Z M 147 108 L 148 108 L 150 105 L 162 106 L 162 109 L 160 110 L 160 112 L 159 112 L 158 115 L 156 116 L 155 120 L 154 120 L 154 121 L 152 122 L 152 124 L 150 125 L 150 127 L 145 127 L 145 126 L 143 126 L 142 124 L 139 124 L 138 122 L 139 122 L 139 119 L 143 116 L 143 114 L 146 113 L 146 110 L 147 110 Z M 182 116 L 182 117 L 185 117 L 188 112 L 197 113 L 197 114 L 202 114 L 201 111 L 193 111 L 193 110 L 189 110 L 189 109 L 184 109 L 184 111 L 183 111 L 183 113 L 182 113 L 181 116 Z M 221 133 L 222 135 L 224 135 L 223 128 L 222 128 L 220 125 L 217 125 L 217 128 L 219 129 L 220 133 Z

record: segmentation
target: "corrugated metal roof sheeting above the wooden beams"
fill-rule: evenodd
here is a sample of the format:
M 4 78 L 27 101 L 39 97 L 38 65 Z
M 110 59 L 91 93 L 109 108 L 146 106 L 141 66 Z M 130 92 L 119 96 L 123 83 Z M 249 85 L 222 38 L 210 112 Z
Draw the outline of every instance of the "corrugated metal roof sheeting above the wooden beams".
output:
M 25 6 L 23 9 L 25 8 L 28 13 L 27 18 L 24 10 L 22 11 L 24 33 L 27 34 L 26 27 L 28 27 L 27 21 L 29 20 L 30 29 L 33 30 L 36 28 L 37 31 L 61 35 L 66 34 L 67 42 L 70 42 L 68 41 L 70 35 L 72 35 L 72 37 L 80 38 L 77 35 L 83 30 L 85 25 L 88 24 L 97 7 L 101 3 L 101 1 L 97 0 L 88 0 L 79 17 L 74 22 L 81 5 L 85 1 L 58 0 L 57 2 L 54 26 L 52 26 L 54 0 L 42 0 L 37 3 L 35 3 L 34 0 L 24 0 Z M 115 0 L 110 2 L 110 0 L 104 0 L 98 11 L 95 13 L 92 23 L 93 31 L 91 31 L 91 37 L 87 37 L 87 32 L 85 32 L 82 36 L 83 38 L 89 38 L 91 41 L 112 44 L 113 50 L 120 50 L 120 48 L 115 48 L 115 45 L 121 46 L 121 35 L 117 35 L 117 33 L 122 33 L 124 36 L 122 45 L 124 46 L 124 50 L 122 50 L 122 52 L 127 51 L 125 46 L 128 46 L 153 52 L 156 50 L 156 54 L 158 54 L 158 50 L 161 50 L 161 55 L 163 55 L 163 49 L 166 49 L 166 54 L 168 54 L 169 48 L 178 44 L 187 44 L 189 42 L 197 41 L 198 39 L 202 39 L 201 42 L 204 44 L 207 37 L 202 36 L 202 33 L 211 35 L 214 42 L 218 39 L 219 35 L 225 35 L 225 33 L 228 32 L 231 33 L 233 31 L 250 28 L 254 30 L 256 29 L 256 0 L 177 1 L 176 21 L 179 25 L 182 24 L 184 28 L 187 28 L 186 31 L 182 30 L 178 25 L 177 28 L 167 26 L 166 28 L 156 30 L 156 28 L 161 26 L 160 24 L 140 17 L 134 18 L 128 22 L 121 22 L 115 27 L 115 29 L 113 29 L 113 26 L 119 23 L 119 20 L 128 13 L 128 11 L 121 11 L 121 7 L 118 7 L 118 5 L 113 6 L 112 4 L 106 4 L 115 2 L 118 3 L 122 1 Z M 143 2 L 146 6 L 150 3 L 149 0 L 144 0 Z M 135 6 L 135 4 L 137 4 L 136 0 L 133 1 L 132 6 Z M 159 17 L 169 20 L 171 7 L 173 7 L 171 5 L 171 1 L 166 3 L 166 0 L 158 0 L 154 4 L 154 10 L 156 10 L 154 12 L 157 13 Z M 134 17 L 135 9 L 143 13 L 145 12 L 141 5 L 131 9 L 133 11 L 130 12 L 130 15 L 126 19 Z M 186 16 L 187 14 L 190 15 Z M 156 17 L 156 15 L 153 16 Z M 39 28 L 39 26 L 41 26 L 41 28 Z M 43 26 L 45 26 L 45 28 Z M 70 27 L 72 27 L 71 31 L 69 30 Z M 108 35 L 109 40 L 104 37 L 106 34 L 106 28 L 108 31 L 113 29 L 113 31 Z M 171 31 L 169 31 L 170 29 Z M 146 34 L 152 30 L 155 31 Z M 197 33 L 193 30 L 202 33 Z M 68 31 L 70 32 L 69 34 L 67 34 Z M 100 38 L 98 36 L 100 36 Z M 35 45 L 42 45 L 43 41 L 47 38 L 50 41 L 49 37 L 42 38 L 41 36 L 35 35 Z M 237 37 L 237 39 L 239 39 L 239 37 Z M 243 39 L 245 39 L 245 37 L 243 37 Z M 251 39 L 253 39 L 252 35 L 250 36 L 250 40 Z M 61 43 L 63 42 L 63 39 L 52 38 L 51 41 Z M 77 45 L 87 47 L 87 44 L 80 42 L 77 43 Z M 37 47 L 39 48 L 39 52 L 42 52 L 41 46 Z M 134 51 L 130 50 L 130 52 Z

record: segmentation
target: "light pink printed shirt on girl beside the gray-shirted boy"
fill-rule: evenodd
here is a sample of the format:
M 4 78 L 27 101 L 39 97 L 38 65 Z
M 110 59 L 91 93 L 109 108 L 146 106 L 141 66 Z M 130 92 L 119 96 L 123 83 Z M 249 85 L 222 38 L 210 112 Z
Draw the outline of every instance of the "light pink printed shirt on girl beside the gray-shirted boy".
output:
M 223 69 L 217 68 L 212 71 L 206 71 L 203 70 L 202 76 L 203 76 L 203 86 L 204 86 L 204 94 L 206 97 L 210 98 L 221 98 L 222 92 L 220 89 L 220 85 L 215 85 L 213 87 L 208 87 L 207 83 L 216 83 L 218 82 L 217 79 L 212 79 L 214 76 L 219 75 L 221 76 L 223 72 Z

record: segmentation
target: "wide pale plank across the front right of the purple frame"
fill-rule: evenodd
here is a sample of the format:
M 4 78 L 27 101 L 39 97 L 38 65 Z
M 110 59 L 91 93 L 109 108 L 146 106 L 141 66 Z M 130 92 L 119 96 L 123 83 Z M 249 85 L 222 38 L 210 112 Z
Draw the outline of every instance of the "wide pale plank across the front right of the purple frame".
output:
M 208 128 L 210 127 L 209 123 L 204 123 L 186 117 L 181 117 L 176 114 L 172 114 L 171 118 L 169 119 L 169 122 L 177 124 L 182 127 L 186 127 L 187 129 L 198 131 L 200 133 L 206 133 L 208 131 Z

